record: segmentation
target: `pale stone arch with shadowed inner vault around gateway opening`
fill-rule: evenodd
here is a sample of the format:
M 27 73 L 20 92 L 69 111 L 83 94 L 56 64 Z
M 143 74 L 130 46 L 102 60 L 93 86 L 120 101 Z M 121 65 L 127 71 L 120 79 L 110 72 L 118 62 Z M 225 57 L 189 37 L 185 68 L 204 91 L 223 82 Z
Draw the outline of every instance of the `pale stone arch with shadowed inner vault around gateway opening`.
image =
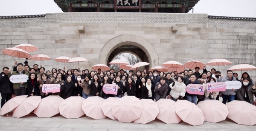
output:
M 158 54 L 154 46 L 143 37 L 132 34 L 119 35 L 109 40 L 100 51 L 98 63 L 108 65 L 113 57 L 121 52 L 138 53 L 137 56 L 139 56 L 143 61 L 148 60 L 148 63 L 151 64 L 149 65 L 149 68 L 159 65 Z M 145 54 L 145 57 L 143 57 L 143 54 Z

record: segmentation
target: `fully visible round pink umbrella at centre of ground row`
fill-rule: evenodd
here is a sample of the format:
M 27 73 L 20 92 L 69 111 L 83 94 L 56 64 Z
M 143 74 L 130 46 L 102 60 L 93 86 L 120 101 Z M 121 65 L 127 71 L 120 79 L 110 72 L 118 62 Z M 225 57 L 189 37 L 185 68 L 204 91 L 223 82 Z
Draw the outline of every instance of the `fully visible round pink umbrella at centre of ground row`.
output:
M 119 122 L 132 122 L 140 118 L 143 111 L 142 102 L 134 96 L 125 96 L 112 105 L 112 114 Z

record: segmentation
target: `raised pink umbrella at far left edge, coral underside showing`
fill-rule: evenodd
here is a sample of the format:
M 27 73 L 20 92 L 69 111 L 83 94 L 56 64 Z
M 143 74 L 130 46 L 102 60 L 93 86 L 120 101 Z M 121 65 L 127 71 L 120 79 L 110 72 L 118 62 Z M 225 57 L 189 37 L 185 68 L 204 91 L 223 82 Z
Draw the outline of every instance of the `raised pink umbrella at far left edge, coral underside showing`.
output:
M 18 58 L 29 58 L 31 55 L 29 52 L 24 51 L 23 49 L 20 48 L 6 48 L 1 50 L 3 54 L 7 54 L 12 57 L 18 57 Z

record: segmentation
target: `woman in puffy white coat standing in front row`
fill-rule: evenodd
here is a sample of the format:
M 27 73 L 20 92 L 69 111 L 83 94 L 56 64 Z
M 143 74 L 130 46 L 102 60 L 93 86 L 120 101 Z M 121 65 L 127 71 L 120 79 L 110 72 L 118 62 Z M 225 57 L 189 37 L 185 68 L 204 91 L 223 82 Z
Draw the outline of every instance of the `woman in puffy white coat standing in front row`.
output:
M 182 76 L 177 77 L 173 80 L 174 82 L 169 85 L 172 88 L 170 95 L 172 100 L 175 102 L 181 100 L 186 94 L 186 85 L 183 83 L 184 78 Z

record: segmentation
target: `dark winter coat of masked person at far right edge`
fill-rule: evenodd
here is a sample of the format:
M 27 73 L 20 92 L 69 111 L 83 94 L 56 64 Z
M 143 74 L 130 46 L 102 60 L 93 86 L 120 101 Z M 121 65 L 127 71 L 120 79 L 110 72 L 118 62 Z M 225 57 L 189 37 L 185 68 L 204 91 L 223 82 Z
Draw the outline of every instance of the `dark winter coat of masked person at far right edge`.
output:
M 236 96 L 237 96 L 237 100 L 242 100 L 244 101 L 245 98 L 245 89 L 247 88 L 247 94 L 246 96 L 249 98 L 250 103 L 254 105 L 253 103 L 253 93 L 256 93 L 256 89 L 253 90 L 253 83 L 249 83 L 247 86 L 245 86 L 244 84 L 242 84 L 242 87 L 239 88 L 236 91 Z

